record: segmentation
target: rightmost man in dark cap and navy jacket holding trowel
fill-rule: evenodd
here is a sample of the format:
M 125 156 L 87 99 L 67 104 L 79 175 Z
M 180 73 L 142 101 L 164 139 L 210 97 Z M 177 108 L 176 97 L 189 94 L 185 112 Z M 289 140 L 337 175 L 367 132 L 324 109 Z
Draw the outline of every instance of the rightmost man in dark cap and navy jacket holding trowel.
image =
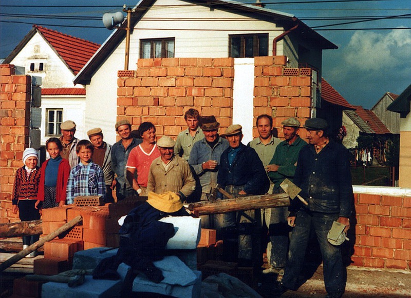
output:
M 333 222 L 349 229 L 353 199 L 348 150 L 330 140 L 328 124 L 321 118 L 306 121 L 309 145 L 298 155 L 294 183 L 302 189 L 300 195 L 308 206 L 293 200 L 289 207 L 288 224 L 293 226 L 290 252 L 283 281 L 276 294 L 287 289 L 296 290 L 302 269 L 310 231 L 314 231 L 324 263 L 324 284 L 327 297 L 341 297 L 345 291 L 347 271 L 339 246 L 327 241 Z

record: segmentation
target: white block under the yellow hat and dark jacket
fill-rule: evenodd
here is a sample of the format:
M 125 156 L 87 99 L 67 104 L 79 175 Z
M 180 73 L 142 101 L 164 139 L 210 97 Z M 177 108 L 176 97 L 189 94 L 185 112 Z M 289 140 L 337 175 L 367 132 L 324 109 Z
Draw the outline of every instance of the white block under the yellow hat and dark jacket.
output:
M 196 249 L 200 241 L 200 218 L 191 216 L 169 216 L 160 222 L 174 225 L 175 234 L 167 242 L 166 249 Z

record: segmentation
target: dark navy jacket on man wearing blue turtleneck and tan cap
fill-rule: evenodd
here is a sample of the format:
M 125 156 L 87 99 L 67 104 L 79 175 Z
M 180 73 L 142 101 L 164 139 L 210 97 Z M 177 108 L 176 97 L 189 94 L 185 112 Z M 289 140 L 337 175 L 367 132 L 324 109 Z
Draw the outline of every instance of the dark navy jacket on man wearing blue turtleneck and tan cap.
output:
M 239 150 L 230 166 L 228 158 L 230 149 L 231 147 L 227 148 L 221 154 L 218 184 L 222 188 L 227 185 L 244 185 L 243 189 L 248 194 L 265 194 L 270 187 L 270 181 L 257 152 L 240 143 Z

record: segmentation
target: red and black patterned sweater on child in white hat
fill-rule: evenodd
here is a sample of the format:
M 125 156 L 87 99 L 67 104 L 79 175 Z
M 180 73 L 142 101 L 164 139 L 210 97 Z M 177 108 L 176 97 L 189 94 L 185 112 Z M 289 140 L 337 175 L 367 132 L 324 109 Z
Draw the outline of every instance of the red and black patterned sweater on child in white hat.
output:
M 19 168 L 16 172 L 13 185 L 13 205 L 17 205 L 18 200 L 36 200 L 39 190 L 40 168 L 35 167 L 35 170 L 27 177 L 25 167 Z

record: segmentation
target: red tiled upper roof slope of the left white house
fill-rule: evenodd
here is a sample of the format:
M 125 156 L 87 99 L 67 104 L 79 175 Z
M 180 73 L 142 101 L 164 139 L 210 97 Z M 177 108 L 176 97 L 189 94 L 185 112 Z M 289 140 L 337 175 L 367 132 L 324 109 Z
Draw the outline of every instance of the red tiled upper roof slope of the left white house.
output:
M 100 48 L 99 44 L 73 37 L 55 30 L 33 25 L 61 56 L 74 74 L 77 74 Z

